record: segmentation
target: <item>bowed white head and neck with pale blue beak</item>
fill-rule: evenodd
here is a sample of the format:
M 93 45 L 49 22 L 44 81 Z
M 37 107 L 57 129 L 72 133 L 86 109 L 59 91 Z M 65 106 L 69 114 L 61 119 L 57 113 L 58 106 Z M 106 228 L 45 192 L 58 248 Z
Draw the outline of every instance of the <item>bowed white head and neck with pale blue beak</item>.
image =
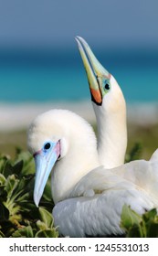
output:
M 99 165 L 95 134 L 90 124 L 73 112 L 51 110 L 37 116 L 28 128 L 27 144 L 36 164 L 37 206 L 52 169 L 56 203 L 68 197 L 81 176 Z

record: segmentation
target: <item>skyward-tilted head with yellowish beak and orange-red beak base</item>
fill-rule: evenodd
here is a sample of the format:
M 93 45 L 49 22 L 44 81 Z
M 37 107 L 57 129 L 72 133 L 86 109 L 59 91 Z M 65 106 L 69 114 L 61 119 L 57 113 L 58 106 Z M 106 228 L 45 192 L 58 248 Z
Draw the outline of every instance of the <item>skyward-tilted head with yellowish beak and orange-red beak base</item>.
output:
M 125 104 L 120 86 L 111 73 L 100 64 L 88 43 L 82 37 L 76 37 L 76 40 L 86 69 L 91 100 L 94 105 L 102 106 L 105 111 L 118 112 L 121 104 Z

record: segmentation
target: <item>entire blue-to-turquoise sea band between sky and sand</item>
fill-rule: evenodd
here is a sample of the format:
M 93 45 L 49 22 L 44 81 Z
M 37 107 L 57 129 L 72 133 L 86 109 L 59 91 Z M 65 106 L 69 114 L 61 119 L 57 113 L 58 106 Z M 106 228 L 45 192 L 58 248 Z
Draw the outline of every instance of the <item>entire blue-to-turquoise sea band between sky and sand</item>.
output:
M 158 50 L 95 50 L 127 102 L 158 101 Z M 78 48 L 1 49 L 0 103 L 89 100 Z

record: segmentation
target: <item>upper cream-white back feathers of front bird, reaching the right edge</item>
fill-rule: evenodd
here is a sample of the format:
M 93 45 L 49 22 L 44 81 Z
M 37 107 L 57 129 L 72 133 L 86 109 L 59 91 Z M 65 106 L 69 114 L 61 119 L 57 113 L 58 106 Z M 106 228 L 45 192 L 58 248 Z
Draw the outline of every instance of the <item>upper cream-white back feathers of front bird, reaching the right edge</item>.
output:
M 158 160 L 137 160 L 106 169 L 100 166 L 86 176 L 70 193 L 70 197 L 93 197 L 107 190 L 132 189 L 142 191 L 146 197 L 158 206 Z

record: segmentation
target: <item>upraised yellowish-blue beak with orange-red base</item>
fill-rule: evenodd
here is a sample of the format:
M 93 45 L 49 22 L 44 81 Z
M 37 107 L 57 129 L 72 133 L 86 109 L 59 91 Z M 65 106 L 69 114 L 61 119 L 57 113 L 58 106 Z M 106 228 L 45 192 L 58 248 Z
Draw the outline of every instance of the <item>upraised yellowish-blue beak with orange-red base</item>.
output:
M 96 59 L 88 43 L 82 37 L 76 37 L 76 40 L 81 59 L 83 60 L 84 67 L 86 69 L 92 101 L 95 101 L 97 104 L 101 104 L 102 94 L 98 79 L 102 77 L 110 78 L 111 75 L 103 68 L 99 60 Z

